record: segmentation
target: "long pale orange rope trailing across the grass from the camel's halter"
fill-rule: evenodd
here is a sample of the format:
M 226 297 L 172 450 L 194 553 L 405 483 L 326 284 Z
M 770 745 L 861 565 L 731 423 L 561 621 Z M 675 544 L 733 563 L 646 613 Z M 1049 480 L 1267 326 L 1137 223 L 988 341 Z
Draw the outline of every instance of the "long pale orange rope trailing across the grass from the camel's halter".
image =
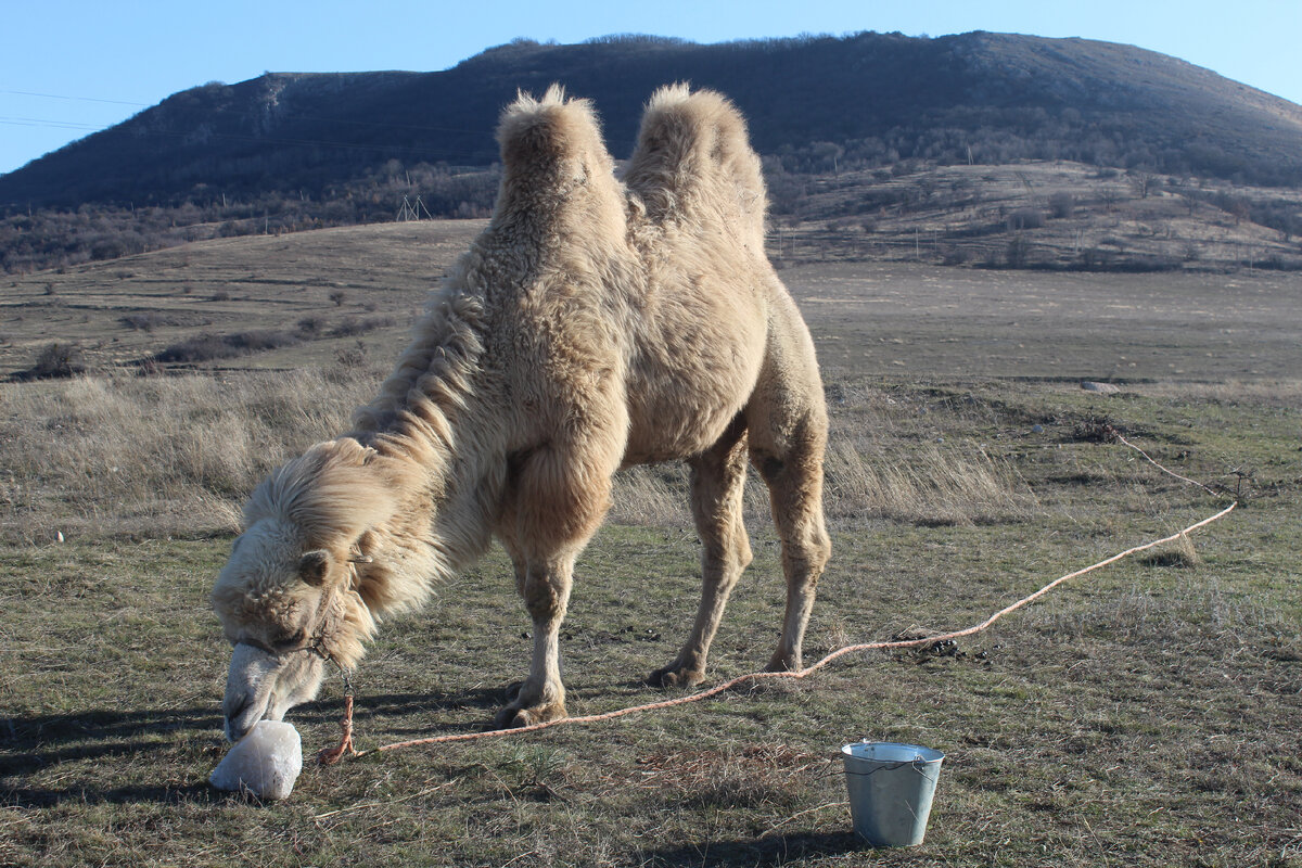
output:
M 1207 488 L 1202 483 L 1197 483 L 1197 481 L 1194 481 L 1191 479 L 1186 479 L 1186 478 L 1181 476 L 1180 474 L 1174 474 L 1174 472 L 1167 470 L 1165 467 L 1163 467 L 1161 465 L 1159 465 L 1156 461 L 1154 461 L 1152 458 L 1150 458 L 1148 454 L 1144 453 L 1142 449 L 1139 449 L 1138 446 L 1135 446 L 1135 445 L 1130 444 L 1129 441 L 1126 441 L 1116 431 L 1111 431 L 1111 436 L 1116 437 L 1116 440 L 1118 440 L 1120 442 L 1125 444 L 1126 446 L 1130 446 L 1131 449 L 1134 449 L 1135 452 L 1138 452 L 1139 454 L 1142 454 L 1144 458 L 1147 458 L 1150 462 L 1152 462 L 1163 472 L 1167 472 L 1167 474 L 1169 474 L 1172 476 L 1176 476 L 1177 479 L 1182 479 L 1182 480 L 1185 480 L 1187 483 L 1193 483 L 1194 485 L 1198 485 L 1199 488 L 1207 491 L 1208 493 L 1216 495 L 1216 492 L 1213 492 L 1212 489 Z M 805 669 L 798 669 L 798 670 L 794 670 L 794 671 L 755 671 L 755 673 L 749 673 L 746 675 L 738 675 L 737 678 L 733 678 L 730 681 L 725 681 L 721 685 L 715 685 L 713 687 L 710 687 L 708 690 L 702 690 L 699 692 L 690 694 L 687 696 L 678 696 L 676 699 L 665 699 L 665 700 L 660 700 L 660 701 L 656 701 L 656 703 L 647 703 L 644 705 L 631 705 L 629 708 L 621 708 L 621 709 L 613 711 L 613 712 L 604 712 L 602 714 L 583 714 L 581 717 L 561 717 L 561 718 L 557 718 L 557 720 L 546 721 L 546 722 L 542 722 L 542 724 L 531 724 L 529 726 L 519 726 L 519 727 L 516 727 L 516 729 L 499 729 L 499 730 L 486 730 L 486 731 L 480 731 L 480 733 L 458 733 L 458 734 L 454 734 L 454 735 L 435 735 L 435 737 L 431 737 L 431 738 L 417 738 L 417 739 L 410 739 L 410 740 L 406 740 L 406 742 L 393 742 L 393 743 L 389 743 L 389 744 L 381 744 L 379 747 L 374 747 L 374 748 L 367 750 L 367 751 L 358 751 L 358 750 L 354 750 L 354 747 L 353 747 L 353 696 L 352 696 L 352 692 L 349 692 L 349 695 L 344 698 L 344 701 L 345 701 L 345 707 L 344 707 L 345 714 L 344 714 L 344 718 L 340 721 L 340 726 L 344 730 L 342 740 L 340 742 L 340 744 L 337 747 L 327 748 L 327 750 L 322 751 L 320 753 L 318 753 L 316 759 L 323 765 L 333 765 L 335 763 L 337 763 L 345 755 L 350 755 L 350 756 L 366 756 L 367 753 L 383 753 L 385 751 L 397 751 L 397 750 L 401 750 L 401 748 L 405 748 L 405 747 L 419 747 L 419 746 L 427 746 L 427 744 L 449 744 L 452 742 L 471 742 L 471 740 L 477 740 L 477 739 L 482 739 L 482 738 L 496 738 L 496 737 L 500 737 L 500 735 L 519 735 L 519 734 L 523 734 L 523 733 L 536 733 L 538 730 L 551 729 L 553 726 L 575 725 L 575 724 L 599 724 L 599 722 L 615 720 L 617 717 L 624 717 L 626 714 L 638 714 L 638 713 L 642 713 L 642 712 L 658 711 L 658 709 L 661 709 L 661 708 L 674 708 L 677 705 L 686 705 L 689 703 L 699 703 L 699 701 L 702 701 L 704 699 L 710 699 L 711 696 L 717 696 L 719 694 L 723 694 L 725 691 L 729 691 L 729 690 L 732 690 L 732 688 L 734 688 L 734 687 L 737 687 L 740 685 L 745 685 L 745 683 L 758 683 L 760 681 L 767 681 L 767 679 L 773 679 L 773 678 L 807 678 L 809 675 L 814 674 L 815 671 L 818 671 L 823 666 L 827 666 L 833 660 L 837 660 L 840 657 L 844 657 L 845 655 L 855 653 L 855 652 L 859 652 L 859 651 L 889 651 L 889 649 L 896 649 L 896 648 L 918 648 L 918 647 L 922 647 L 922 645 L 934 645 L 936 643 L 949 642 L 952 639 L 961 639 L 963 636 L 971 636 L 974 634 L 982 632 L 983 630 L 988 629 L 991 625 L 993 625 L 996 621 L 999 621 L 1004 616 L 1012 614 L 1013 612 L 1017 612 L 1022 606 L 1034 603 L 1035 600 L 1040 599 L 1042 596 L 1044 596 L 1046 593 L 1048 593 L 1049 591 L 1052 591 L 1057 586 L 1062 584 L 1064 582 L 1079 578 L 1079 576 L 1085 575 L 1086 573 L 1092 573 L 1094 570 L 1098 570 L 1098 569 L 1101 569 L 1104 566 L 1108 566 L 1109 563 L 1116 563 L 1117 561 L 1120 561 L 1120 560 L 1122 560 L 1125 557 L 1129 557 L 1131 554 L 1137 554 L 1139 552 L 1143 552 L 1143 550 L 1147 550 L 1147 549 L 1151 549 L 1151 548 L 1156 548 L 1156 547 L 1163 545 L 1165 543 L 1173 543 L 1173 541 L 1181 539 L 1182 536 L 1186 536 L 1189 532 L 1197 531 L 1200 527 L 1206 527 L 1207 524 L 1211 524 L 1212 522 L 1215 522 L 1215 521 L 1217 521 L 1217 519 L 1228 515 L 1236 506 L 1238 506 L 1238 501 L 1232 502 L 1229 506 L 1226 506 L 1221 511 L 1216 513 L 1215 515 L 1204 518 L 1200 522 L 1195 522 L 1194 524 L 1190 524 L 1185 530 L 1178 531 L 1176 534 L 1172 534 L 1170 536 L 1164 536 L 1164 537 L 1161 537 L 1159 540 L 1152 540 L 1151 543 L 1144 543 L 1142 545 L 1135 545 L 1133 548 L 1128 548 L 1125 552 L 1118 552 L 1118 553 L 1113 554 L 1112 557 L 1108 557 L 1108 558 L 1104 558 L 1104 560 L 1099 561 L 1098 563 L 1091 563 L 1090 566 L 1087 566 L 1085 569 L 1075 570 L 1074 573 L 1068 573 L 1066 575 L 1061 575 L 1061 576 L 1053 579 L 1052 582 L 1049 582 L 1048 584 L 1046 584 L 1044 587 L 1042 587 L 1035 593 L 1027 595 L 1027 596 L 1022 597 L 1021 600 L 1018 600 L 1018 601 L 1016 601 L 1016 603 L 1013 603 L 1013 604 L 1010 604 L 1008 606 L 1004 606 L 1003 609 L 1000 609 L 995 614 L 990 616 L 988 618 L 986 618 L 980 623 L 974 625 L 971 627 L 966 627 L 963 630 L 956 630 L 953 632 L 947 632 L 947 634 L 935 635 L 935 636 L 924 636 L 922 639 L 902 639 L 902 640 L 891 640 L 891 642 L 865 642 L 862 644 L 845 645 L 844 648 L 837 648 L 836 651 L 828 653 L 825 657 L 823 657 L 822 660 L 819 660 L 818 662 L 815 662 L 815 664 L 812 664 L 810 666 L 806 666 Z

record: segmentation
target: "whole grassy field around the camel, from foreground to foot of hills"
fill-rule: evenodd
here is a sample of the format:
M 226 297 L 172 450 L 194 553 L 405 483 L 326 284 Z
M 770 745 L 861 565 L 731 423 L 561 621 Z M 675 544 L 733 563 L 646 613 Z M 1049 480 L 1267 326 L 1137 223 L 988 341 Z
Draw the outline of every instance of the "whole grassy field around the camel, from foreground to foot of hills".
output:
M 807 661 L 969 626 L 1237 496 L 1193 550 L 1069 583 L 944 653 L 312 766 L 283 803 L 211 790 L 229 648 L 207 593 L 236 510 L 368 397 L 470 229 L 211 242 L 0 289 L 4 370 L 51 340 L 82 342 L 92 368 L 0 384 L 0 864 L 1302 865 L 1302 284 L 1247 271 L 783 272 L 833 419 L 835 549 Z M 132 329 L 121 308 L 182 324 Z M 312 315 L 326 337 L 206 373 L 115 367 L 195 329 Z M 348 315 L 396 321 L 358 360 L 340 354 L 357 338 L 328 336 Z M 1103 441 L 1104 424 L 1224 496 Z M 579 561 L 572 713 L 661 696 L 641 682 L 673 656 L 699 582 L 682 479 L 625 475 Z M 780 617 L 776 537 L 760 487 L 747 496 L 756 557 L 719 679 L 767 660 Z M 355 679 L 361 747 L 480 729 L 527 665 L 527 630 L 495 549 L 385 625 Z M 292 714 L 305 750 L 335 738 L 340 708 L 336 679 Z M 836 755 L 861 738 L 947 753 L 922 847 L 850 834 Z

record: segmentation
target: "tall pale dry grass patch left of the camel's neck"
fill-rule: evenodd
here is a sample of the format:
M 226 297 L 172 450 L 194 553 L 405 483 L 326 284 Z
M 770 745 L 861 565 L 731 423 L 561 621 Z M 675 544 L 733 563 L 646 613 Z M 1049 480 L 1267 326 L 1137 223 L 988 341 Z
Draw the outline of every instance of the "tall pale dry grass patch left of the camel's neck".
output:
M 230 532 L 253 487 L 371 388 L 320 371 L 0 384 L 4 536 Z

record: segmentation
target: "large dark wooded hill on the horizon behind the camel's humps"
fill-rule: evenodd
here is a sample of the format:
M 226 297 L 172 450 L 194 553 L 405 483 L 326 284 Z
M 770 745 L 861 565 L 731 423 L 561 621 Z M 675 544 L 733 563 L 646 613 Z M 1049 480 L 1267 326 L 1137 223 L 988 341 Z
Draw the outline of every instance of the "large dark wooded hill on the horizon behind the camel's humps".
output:
M 492 129 L 517 88 L 551 82 L 592 98 L 625 156 L 647 95 L 678 79 L 734 99 L 756 148 L 786 170 L 1064 159 L 1302 185 L 1302 108 L 1130 46 L 990 33 L 711 46 L 612 36 L 517 40 L 434 73 L 204 85 L 0 177 L 0 206 L 358 197 L 404 173 L 454 176 L 497 159 Z M 479 202 L 456 185 L 445 193 L 426 203 L 450 213 Z

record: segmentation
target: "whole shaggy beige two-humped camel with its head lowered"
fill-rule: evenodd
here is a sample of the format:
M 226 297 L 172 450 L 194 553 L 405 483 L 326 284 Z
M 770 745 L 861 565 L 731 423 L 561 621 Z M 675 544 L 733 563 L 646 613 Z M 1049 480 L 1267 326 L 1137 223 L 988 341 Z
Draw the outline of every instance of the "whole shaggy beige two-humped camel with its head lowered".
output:
M 503 180 L 483 233 L 431 293 L 353 429 L 253 492 L 212 601 L 234 652 L 238 740 L 352 670 L 385 616 L 500 540 L 533 619 L 527 677 L 497 727 L 564 717 L 559 631 L 575 558 L 621 467 L 691 470 L 702 596 L 660 687 L 706 675 L 751 560 L 747 459 L 768 487 L 786 608 L 771 670 L 801 642 L 831 554 L 827 409 L 809 329 L 764 254 L 766 190 L 724 96 L 663 87 L 622 181 L 587 100 L 553 86 L 501 115 Z

